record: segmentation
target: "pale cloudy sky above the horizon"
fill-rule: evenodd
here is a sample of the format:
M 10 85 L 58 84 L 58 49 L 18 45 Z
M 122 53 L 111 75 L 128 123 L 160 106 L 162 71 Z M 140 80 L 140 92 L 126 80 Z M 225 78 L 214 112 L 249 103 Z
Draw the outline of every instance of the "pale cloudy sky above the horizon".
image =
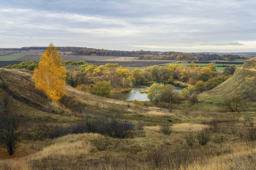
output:
M 0 0 L 0 47 L 255 52 L 255 0 Z

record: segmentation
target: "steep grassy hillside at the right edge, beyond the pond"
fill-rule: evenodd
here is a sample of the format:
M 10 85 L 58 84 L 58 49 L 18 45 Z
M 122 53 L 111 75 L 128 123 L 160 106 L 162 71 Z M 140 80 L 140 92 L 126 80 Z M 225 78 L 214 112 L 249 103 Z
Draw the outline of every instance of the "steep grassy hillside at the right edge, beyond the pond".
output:
M 225 98 L 233 95 L 241 95 L 247 101 L 256 101 L 256 57 L 238 67 L 230 79 L 201 96 Z

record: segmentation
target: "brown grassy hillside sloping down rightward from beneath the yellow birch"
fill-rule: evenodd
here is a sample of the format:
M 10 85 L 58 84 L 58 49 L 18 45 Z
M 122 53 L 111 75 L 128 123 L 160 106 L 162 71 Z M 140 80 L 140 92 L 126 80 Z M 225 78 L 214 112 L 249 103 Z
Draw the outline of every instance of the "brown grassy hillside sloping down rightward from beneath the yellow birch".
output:
M 83 115 L 97 113 L 117 114 L 121 119 L 132 122 L 146 120 L 148 123 L 168 122 L 170 118 L 179 121 L 180 118 L 168 109 L 128 104 L 83 93 L 68 85 L 67 93 L 60 104 L 55 104 L 49 101 L 44 93 L 34 88 L 31 75 L 32 72 L 27 70 L 0 69 L 0 95 L 7 91 L 12 96 L 12 102 L 18 112 L 32 123 L 75 123 L 83 120 Z

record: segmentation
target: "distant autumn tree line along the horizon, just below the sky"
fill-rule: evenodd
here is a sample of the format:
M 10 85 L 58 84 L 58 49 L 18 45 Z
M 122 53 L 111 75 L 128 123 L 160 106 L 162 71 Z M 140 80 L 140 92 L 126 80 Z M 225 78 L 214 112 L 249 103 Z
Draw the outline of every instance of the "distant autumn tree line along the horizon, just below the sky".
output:
M 1 48 L 0 50 L 47 50 L 48 47 Z M 159 52 L 146 50 L 106 50 L 88 47 L 58 47 L 61 52 L 72 52 L 72 55 L 121 56 L 138 57 L 140 60 L 171 60 L 171 61 L 234 61 L 246 59 L 233 54 Z

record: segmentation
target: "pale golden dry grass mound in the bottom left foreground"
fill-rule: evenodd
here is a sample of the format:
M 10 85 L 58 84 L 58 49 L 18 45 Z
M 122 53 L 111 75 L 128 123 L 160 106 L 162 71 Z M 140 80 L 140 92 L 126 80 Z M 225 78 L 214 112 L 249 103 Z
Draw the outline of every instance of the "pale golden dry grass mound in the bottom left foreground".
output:
M 67 135 L 55 140 L 55 144 L 23 158 L 0 161 L 0 169 L 37 169 L 46 161 L 48 167 L 63 165 L 69 167 L 80 155 L 86 155 L 91 149 L 90 138 L 98 134 Z M 42 169 L 44 167 L 40 167 Z

